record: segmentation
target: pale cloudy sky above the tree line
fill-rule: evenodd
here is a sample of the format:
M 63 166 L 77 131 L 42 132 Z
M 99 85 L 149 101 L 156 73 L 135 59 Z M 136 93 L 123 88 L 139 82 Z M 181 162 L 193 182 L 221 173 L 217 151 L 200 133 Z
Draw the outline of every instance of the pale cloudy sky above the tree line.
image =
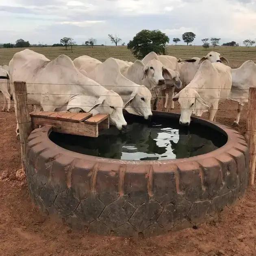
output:
M 195 44 L 256 39 L 256 0 L 0 0 L 0 15 L 0 43 L 94 37 L 109 45 L 109 33 L 127 43 L 142 29 L 160 29 L 170 43 L 187 31 L 197 35 Z

